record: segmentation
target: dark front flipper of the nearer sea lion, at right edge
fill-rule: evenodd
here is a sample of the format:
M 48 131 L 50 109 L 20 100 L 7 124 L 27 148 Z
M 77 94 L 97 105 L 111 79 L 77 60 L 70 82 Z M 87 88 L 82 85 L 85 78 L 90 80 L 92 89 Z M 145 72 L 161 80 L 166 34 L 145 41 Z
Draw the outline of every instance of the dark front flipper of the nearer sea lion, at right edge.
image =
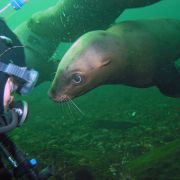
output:
M 174 63 L 161 67 L 155 83 L 163 94 L 180 97 L 180 69 Z

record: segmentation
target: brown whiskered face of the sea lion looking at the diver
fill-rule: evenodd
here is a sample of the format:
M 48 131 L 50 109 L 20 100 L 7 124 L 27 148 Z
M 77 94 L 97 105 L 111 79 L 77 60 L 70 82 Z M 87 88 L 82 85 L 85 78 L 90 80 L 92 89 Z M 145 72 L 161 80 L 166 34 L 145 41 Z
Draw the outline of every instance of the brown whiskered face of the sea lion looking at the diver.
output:
M 80 38 L 62 58 L 49 90 L 54 101 L 68 101 L 104 82 L 103 71 L 109 61 L 91 43 L 87 37 Z

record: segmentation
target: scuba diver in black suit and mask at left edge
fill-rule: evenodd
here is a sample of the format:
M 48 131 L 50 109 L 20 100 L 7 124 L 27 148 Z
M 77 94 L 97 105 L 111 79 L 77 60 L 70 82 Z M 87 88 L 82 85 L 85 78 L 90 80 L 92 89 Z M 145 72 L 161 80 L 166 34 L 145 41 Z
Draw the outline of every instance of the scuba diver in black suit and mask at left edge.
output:
M 38 72 L 26 67 L 21 42 L 0 18 L 0 179 L 2 180 L 14 178 L 45 180 L 52 176 L 51 167 L 39 171 L 36 159 L 28 160 L 7 136 L 9 131 L 21 126 L 28 115 L 27 102 L 15 101 L 11 94 L 29 93 L 37 79 Z

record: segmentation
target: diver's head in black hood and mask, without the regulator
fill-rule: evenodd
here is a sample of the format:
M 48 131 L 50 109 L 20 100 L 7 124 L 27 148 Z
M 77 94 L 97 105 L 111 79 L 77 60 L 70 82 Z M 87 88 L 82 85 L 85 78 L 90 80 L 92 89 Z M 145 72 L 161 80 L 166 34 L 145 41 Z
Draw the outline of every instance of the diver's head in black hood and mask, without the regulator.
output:
M 11 92 L 28 93 L 35 85 L 38 72 L 25 64 L 24 48 L 17 36 L 0 19 L 0 115 L 12 101 Z

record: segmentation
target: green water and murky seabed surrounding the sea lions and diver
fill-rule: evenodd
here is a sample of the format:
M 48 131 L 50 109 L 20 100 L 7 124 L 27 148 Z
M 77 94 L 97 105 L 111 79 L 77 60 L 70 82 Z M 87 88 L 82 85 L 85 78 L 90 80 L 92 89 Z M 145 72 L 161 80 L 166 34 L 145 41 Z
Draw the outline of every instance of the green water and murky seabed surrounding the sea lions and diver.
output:
M 1 0 L 0 7 L 7 2 Z M 56 2 L 29 0 L 20 11 L 9 8 L 2 16 L 14 30 Z M 161 17 L 180 19 L 180 1 L 125 10 L 116 22 Z M 60 56 L 64 47 L 58 49 Z M 40 167 L 53 166 L 50 179 L 180 179 L 180 99 L 155 87 L 106 85 L 74 100 L 82 114 L 72 104 L 52 102 L 50 83 L 22 97 L 29 104 L 29 117 L 10 134 Z

